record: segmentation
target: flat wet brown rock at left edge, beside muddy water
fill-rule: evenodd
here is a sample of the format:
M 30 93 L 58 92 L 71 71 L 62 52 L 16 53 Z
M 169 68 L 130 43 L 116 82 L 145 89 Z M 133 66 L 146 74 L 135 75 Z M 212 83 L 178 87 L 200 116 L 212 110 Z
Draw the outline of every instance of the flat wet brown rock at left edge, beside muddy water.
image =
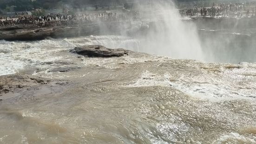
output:
M 72 82 L 25 73 L 0 76 L 0 105 L 17 104 L 63 92 Z

